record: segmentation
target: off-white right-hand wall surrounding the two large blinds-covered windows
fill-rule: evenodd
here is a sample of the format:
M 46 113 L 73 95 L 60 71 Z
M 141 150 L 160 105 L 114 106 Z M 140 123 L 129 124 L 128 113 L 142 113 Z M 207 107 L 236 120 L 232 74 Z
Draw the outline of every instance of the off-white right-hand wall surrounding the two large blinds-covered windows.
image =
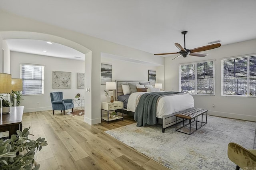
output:
M 246 55 L 256 53 L 256 40 L 246 42 L 239 42 L 230 45 L 223 45 L 219 48 L 203 51 L 208 53 L 207 57 L 193 57 L 186 58 L 179 57 L 172 60 L 175 56 L 166 57 L 165 59 L 165 74 L 166 74 L 166 90 L 178 91 L 179 75 L 178 65 L 180 63 L 189 63 L 194 61 L 203 61 L 208 59 L 216 59 L 216 92 L 215 96 L 193 95 L 195 107 L 205 108 L 209 110 L 210 115 L 221 117 L 230 117 L 235 119 L 242 119 L 248 121 L 256 121 L 256 97 L 226 97 L 220 95 L 220 79 L 221 67 L 220 60 L 223 57 L 231 57 L 238 55 Z M 212 107 L 212 104 L 215 107 Z

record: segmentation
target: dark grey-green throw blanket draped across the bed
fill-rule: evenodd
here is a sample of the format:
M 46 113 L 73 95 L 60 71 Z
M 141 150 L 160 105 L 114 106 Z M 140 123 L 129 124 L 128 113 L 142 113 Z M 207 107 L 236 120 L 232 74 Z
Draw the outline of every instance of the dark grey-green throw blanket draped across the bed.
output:
M 161 91 L 141 95 L 134 113 L 134 120 L 137 122 L 137 127 L 156 124 L 156 105 L 159 97 L 180 93 L 183 92 Z

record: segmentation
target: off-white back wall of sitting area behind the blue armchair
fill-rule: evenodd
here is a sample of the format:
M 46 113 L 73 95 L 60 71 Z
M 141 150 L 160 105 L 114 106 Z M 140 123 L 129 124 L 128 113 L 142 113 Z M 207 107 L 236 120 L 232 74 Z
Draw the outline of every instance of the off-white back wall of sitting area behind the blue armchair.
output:
M 53 91 L 62 91 L 64 99 L 74 99 L 77 93 L 84 96 L 84 89 L 77 89 L 76 79 L 77 73 L 84 73 L 84 61 L 11 51 L 12 78 L 20 78 L 20 63 L 45 65 L 44 95 L 22 96 L 20 105 L 24 105 L 25 113 L 52 110 L 50 92 Z M 52 71 L 71 72 L 71 89 L 52 89 Z

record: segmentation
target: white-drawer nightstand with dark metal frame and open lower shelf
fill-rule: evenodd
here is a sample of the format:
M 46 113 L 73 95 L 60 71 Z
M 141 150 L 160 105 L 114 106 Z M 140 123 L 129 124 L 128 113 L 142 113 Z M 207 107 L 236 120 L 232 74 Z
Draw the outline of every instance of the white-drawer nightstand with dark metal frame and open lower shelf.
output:
M 108 116 L 102 117 L 102 110 L 108 111 L 116 111 L 118 109 L 122 109 L 122 116 L 118 115 L 118 112 L 116 112 L 116 115 L 114 118 L 109 118 Z M 107 103 L 106 101 L 101 102 L 101 109 L 100 109 L 100 117 L 101 119 L 109 122 L 109 121 L 114 121 L 118 119 L 123 119 L 124 120 L 124 103 L 122 101 L 114 101 L 113 103 Z

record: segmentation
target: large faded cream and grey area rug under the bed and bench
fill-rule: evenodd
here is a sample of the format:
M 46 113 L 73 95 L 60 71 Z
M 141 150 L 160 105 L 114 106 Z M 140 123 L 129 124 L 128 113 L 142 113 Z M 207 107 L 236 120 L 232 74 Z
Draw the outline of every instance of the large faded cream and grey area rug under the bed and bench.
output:
M 254 147 L 255 122 L 208 116 L 207 124 L 193 134 L 162 133 L 160 125 L 136 127 L 136 123 L 106 131 L 114 138 L 172 170 L 228 170 L 236 165 L 228 159 L 228 143 Z

